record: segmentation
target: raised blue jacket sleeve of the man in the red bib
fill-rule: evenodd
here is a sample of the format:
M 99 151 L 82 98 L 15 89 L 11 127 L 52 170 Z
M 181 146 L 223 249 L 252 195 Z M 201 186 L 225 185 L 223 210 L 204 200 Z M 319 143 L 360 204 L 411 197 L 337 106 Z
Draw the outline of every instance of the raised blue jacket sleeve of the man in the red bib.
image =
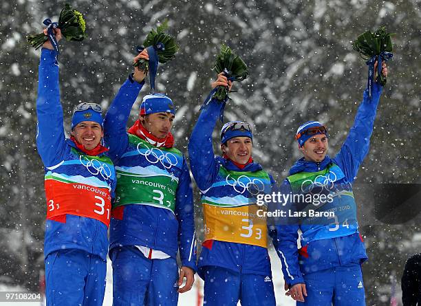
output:
M 38 74 L 36 146 L 46 167 L 62 162 L 66 147 L 56 55 L 54 50 L 41 50 Z

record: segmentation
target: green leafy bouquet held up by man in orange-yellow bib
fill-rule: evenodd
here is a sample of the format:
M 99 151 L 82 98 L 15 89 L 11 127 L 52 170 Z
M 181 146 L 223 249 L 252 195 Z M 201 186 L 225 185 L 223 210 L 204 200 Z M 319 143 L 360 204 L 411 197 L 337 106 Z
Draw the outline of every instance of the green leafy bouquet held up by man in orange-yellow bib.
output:
M 224 72 L 224 75 L 231 81 L 241 82 L 248 78 L 248 68 L 246 63 L 227 45 L 221 45 L 221 52 L 217 55 L 215 67 L 217 74 Z M 224 101 L 228 98 L 228 87 L 218 86 L 214 97 Z

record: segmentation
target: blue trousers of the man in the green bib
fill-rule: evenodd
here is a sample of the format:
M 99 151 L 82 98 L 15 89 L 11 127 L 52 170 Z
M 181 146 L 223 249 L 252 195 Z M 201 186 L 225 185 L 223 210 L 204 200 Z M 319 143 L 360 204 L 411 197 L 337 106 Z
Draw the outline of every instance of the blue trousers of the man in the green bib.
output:
M 173 258 L 147 259 L 135 246 L 114 248 L 113 306 L 176 306 L 178 265 Z

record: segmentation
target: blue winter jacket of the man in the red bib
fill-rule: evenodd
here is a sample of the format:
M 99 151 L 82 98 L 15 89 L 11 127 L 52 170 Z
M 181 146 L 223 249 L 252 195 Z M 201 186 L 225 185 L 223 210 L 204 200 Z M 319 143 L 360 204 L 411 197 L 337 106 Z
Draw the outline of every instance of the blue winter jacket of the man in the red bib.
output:
M 87 160 L 91 157 L 81 152 L 72 140 L 65 138 L 56 55 L 54 50 L 43 48 L 39 65 L 36 146 L 45 166 L 45 173 L 65 179 L 69 184 L 82 182 L 89 185 L 89 182 L 94 182 L 93 186 L 108 186 L 111 197 L 114 197 L 116 175 L 112 164 L 109 164 L 110 172 L 101 175 L 98 167 L 89 168 L 87 163 L 80 162 L 81 157 Z M 98 156 L 102 155 L 103 153 Z M 47 207 L 51 209 L 50 206 Z M 47 219 L 44 255 L 47 257 L 56 250 L 78 249 L 106 259 L 109 245 L 107 231 L 105 223 L 89 217 L 65 215 L 64 223 Z

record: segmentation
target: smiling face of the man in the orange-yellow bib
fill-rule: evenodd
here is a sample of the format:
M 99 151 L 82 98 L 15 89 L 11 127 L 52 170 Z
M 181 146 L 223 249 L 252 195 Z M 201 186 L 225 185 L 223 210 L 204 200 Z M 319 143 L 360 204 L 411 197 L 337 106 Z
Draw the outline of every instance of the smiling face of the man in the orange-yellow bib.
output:
M 252 153 L 252 140 L 248 137 L 235 137 L 221 144 L 222 152 L 237 164 L 247 164 Z

